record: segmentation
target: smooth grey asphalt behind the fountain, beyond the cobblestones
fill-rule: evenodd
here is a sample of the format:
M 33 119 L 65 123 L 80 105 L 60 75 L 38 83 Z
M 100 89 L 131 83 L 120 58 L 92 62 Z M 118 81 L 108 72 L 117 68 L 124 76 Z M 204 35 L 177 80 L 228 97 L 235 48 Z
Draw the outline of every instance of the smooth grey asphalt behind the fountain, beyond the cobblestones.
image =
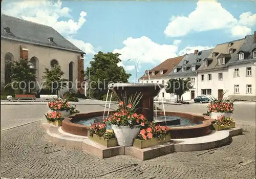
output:
M 183 104 L 164 105 L 166 111 L 185 111 L 190 113 L 206 113 L 207 104 Z M 90 111 L 103 111 L 105 103 L 103 101 L 88 100 L 87 103 L 76 104 L 80 113 Z M 158 105 L 163 109 L 162 105 Z M 107 105 L 108 110 L 109 105 Z M 115 109 L 116 105 L 111 105 Z M 26 123 L 45 119 L 44 114 L 49 110 L 46 104 L 1 104 L 1 130 Z M 236 122 L 255 127 L 255 102 L 236 102 L 234 112 L 231 116 Z

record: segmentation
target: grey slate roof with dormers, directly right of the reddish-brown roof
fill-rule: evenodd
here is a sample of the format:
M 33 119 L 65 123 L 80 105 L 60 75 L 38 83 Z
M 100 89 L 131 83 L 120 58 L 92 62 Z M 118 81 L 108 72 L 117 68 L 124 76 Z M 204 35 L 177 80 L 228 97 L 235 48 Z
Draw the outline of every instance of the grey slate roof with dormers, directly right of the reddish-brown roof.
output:
M 184 65 L 184 61 L 188 61 L 188 63 L 186 64 L 189 69 L 187 69 L 186 72 L 182 72 L 182 70 L 179 70 L 177 73 L 174 73 L 173 71 L 171 71 L 169 73 L 169 76 L 175 77 L 175 76 L 187 76 L 188 74 L 194 74 L 195 71 L 191 71 L 190 66 L 192 64 L 197 64 L 197 65 L 201 65 L 203 64 L 203 60 L 209 56 L 209 54 L 212 52 L 213 49 L 208 49 L 208 50 L 203 50 L 200 51 L 200 55 L 198 56 L 197 54 L 191 53 L 186 55 L 177 66 L 183 66 Z M 197 59 L 201 59 L 200 62 L 197 62 Z

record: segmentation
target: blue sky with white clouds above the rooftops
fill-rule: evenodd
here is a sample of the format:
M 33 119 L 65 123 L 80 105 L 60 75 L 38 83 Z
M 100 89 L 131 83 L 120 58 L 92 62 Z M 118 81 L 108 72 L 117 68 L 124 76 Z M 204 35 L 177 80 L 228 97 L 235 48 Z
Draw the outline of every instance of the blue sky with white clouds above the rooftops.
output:
M 86 52 L 119 53 L 135 81 L 167 58 L 256 31 L 256 1 L 3 1 L 2 13 L 53 27 Z M 130 59 L 130 60 L 129 60 Z

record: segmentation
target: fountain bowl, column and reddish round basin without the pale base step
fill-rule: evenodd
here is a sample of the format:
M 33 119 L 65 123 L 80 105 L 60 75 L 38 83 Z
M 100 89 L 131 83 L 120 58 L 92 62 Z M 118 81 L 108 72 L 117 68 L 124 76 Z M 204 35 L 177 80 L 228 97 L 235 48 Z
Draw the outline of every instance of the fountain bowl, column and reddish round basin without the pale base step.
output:
M 124 98 L 124 96 L 125 98 L 129 98 L 131 95 L 141 93 L 143 96 L 137 106 L 139 108 L 136 113 L 142 114 L 148 121 L 171 127 L 170 133 L 173 139 L 200 137 L 210 133 L 209 126 L 211 125 L 211 122 L 205 120 L 203 116 L 165 111 L 163 101 L 163 111 L 154 111 L 154 97 L 156 97 L 159 94 L 160 89 L 164 87 L 163 84 L 112 83 L 108 87 L 109 90 L 107 96 L 111 90 L 111 97 L 114 93 L 120 99 Z M 114 111 L 110 110 L 111 104 L 109 103 L 108 114 L 106 115 L 106 104 L 107 101 L 105 102 L 104 111 L 70 116 L 69 119 L 63 121 L 62 129 L 74 135 L 87 136 L 91 123 L 102 122 L 105 117 L 114 113 Z

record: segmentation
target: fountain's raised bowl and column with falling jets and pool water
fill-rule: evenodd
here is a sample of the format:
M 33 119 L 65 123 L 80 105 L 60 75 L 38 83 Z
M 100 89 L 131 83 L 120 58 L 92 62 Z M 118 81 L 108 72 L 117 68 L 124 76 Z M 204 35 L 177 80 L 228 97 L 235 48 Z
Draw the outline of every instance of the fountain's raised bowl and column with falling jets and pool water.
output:
M 105 115 L 106 104 L 108 102 L 109 91 L 111 89 L 112 93 L 117 95 L 119 98 L 121 98 L 121 96 L 122 96 L 121 94 L 123 94 L 123 92 L 125 92 L 127 94 L 127 97 L 134 95 L 137 92 L 142 93 L 143 98 L 141 99 L 140 103 L 138 104 L 139 109 L 138 109 L 137 113 L 145 116 L 149 122 L 153 121 L 153 122 L 159 123 L 160 125 L 167 125 L 167 126 L 172 125 L 172 127 L 190 126 L 190 125 L 200 124 L 197 121 L 193 121 L 190 119 L 184 119 L 184 118 L 180 118 L 177 116 L 166 116 L 163 99 L 162 99 L 163 116 L 161 115 L 161 113 L 157 114 L 157 105 L 156 105 L 156 111 L 154 111 L 154 97 L 158 95 L 158 93 L 159 93 L 161 87 L 163 87 L 163 85 L 152 84 L 152 83 L 136 83 L 136 84 L 112 83 L 108 87 L 109 87 L 109 89 L 108 89 L 108 93 L 106 94 L 106 101 L 105 101 L 103 116 L 74 121 L 75 123 L 88 125 L 88 124 L 90 124 L 90 122 L 93 122 L 93 121 L 101 122 L 102 120 L 104 120 L 104 118 L 106 117 L 106 115 Z M 112 95 L 113 94 L 111 94 L 110 101 L 109 101 L 108 116 L 110 113 L 110 105 L 111 105 Z M 155 115 L 154 115 L 154 112 L 156 112 Z

